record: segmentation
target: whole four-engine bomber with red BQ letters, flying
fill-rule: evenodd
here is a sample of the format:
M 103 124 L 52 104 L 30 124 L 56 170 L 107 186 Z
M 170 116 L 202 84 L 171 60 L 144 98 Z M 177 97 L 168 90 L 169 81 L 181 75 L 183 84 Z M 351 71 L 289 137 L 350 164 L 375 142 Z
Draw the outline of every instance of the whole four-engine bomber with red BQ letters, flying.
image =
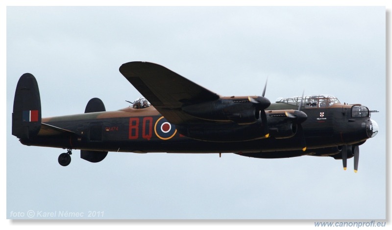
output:
M 378 132 L 372 111 L 361 104 L 342 104 L 334 96 L 313 95 L 270 103 L 262 96 L 222 97 L 171 70 L 148 62 L 128 62 L 123 76 L 145 99 L 105 111 L 91 99 L 84 114 L 41 117 L 38 84 L 20 77 L 12 113 L 12 135 L 28 146 L 67 149 L 58 157 L 71 162 L 72 150 L 90 161 L 108 152 L 236 153 L 256 158 L 302 155 L 354 157 L 359 145 Z M 150 104 L 148 104 L 148 102 Z M 374 112 L 374 111 L 373 111 Z

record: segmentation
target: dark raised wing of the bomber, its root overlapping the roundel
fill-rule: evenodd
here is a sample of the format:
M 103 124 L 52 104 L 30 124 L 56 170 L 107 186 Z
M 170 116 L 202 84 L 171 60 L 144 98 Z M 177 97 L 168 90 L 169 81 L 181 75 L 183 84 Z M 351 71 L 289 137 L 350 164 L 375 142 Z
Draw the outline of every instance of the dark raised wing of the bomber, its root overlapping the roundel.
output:
M 181 111 L 184 104 L 220 98 L 218 94 L 158 64 L 128 62 L 120 67 L 120 73 L 173 124 L 198 120 Z

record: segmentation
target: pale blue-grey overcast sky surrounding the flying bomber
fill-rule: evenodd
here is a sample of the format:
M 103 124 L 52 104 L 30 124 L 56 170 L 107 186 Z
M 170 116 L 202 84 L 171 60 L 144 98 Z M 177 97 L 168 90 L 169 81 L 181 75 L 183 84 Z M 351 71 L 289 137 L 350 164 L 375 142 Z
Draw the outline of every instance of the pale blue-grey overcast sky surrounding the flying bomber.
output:
M 7 218 L 103 212 L 104 219 L 385 219 L 385 7 L 7 7 Z M 43 117 L 106 110 L 140 93 L 120 74 L 149 61 L 223 96 L 330 94 L 380 129 L 343 171 L 332 157 L 109 153 L 61 167 L 62 149 L 11 135 L 15 87 L 33 74 Z M 35 216 L 35 218 L 41 218 Z M 25 218 L 23 218 L 25 219 Z M 85 218 L 84 218 L 85 219 Z

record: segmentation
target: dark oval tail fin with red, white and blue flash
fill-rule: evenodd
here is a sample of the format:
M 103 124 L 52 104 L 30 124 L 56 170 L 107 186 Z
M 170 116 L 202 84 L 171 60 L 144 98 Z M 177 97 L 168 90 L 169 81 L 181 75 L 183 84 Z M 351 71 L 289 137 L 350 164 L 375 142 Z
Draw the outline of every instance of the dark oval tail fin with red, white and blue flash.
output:
M 41 98 L 38 83 L 32 74 L 24 74 L 16 85 L 12 112 L 12 135 L 29 139 L 41 128 Z

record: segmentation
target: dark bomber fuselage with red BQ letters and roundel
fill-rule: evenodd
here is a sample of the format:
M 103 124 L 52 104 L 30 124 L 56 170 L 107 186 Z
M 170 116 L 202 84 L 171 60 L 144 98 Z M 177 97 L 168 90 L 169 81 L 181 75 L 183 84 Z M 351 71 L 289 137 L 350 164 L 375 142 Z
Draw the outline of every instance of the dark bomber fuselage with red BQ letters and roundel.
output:
M 352 118 L 352 106 L 336 104 L 328 108 L 304 108 L 308 119 L 302 123 L 302 127 L 308 150 L 351 145 L 368 139 L 366 123 L 369 117 Z M 270 108 L 295 109 L 295 106 L 274 103 Z M 156 110 L 155 113 L 153 111 L 153 106 L 145 109 L 127 107 L 118 111 L 43 118 L 42 123 L 70 130 L 74 135 L 38 135 L 28 140 L 21 139 L 21 142 L 64 149 L 135 153 L 254 153 L 301 149 L 296 145 L 298 138 L 295 135 L 293 138 L 277 139 L 272 136 L 245 142 L 195 140 L 181 135 L 175 125 L 167 122 Z M 265 111 L 269 115 L 271 110 L 267 108 Z M 146 116 L 147 113 L 149 115 Z M 352 121 L 348 122 L 349 119 Z M 228 122 L 224 127 L 219 130 L 222 134 L 245 125 Z M 219 129 L 220 126 L 211 128 Z

